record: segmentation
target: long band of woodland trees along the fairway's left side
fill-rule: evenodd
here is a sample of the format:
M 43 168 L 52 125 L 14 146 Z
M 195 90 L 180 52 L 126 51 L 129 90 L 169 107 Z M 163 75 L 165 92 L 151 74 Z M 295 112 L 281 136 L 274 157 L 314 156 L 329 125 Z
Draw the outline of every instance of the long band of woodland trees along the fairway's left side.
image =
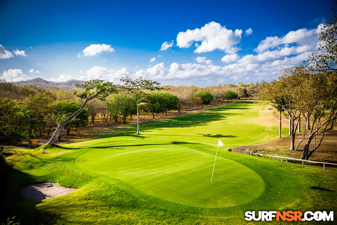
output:
M 248 98 L 258 93 L 264 83 L 241 87 L 233 84 L 159 87 L 157 82 L 127 78 L 123 85 L 91 80 L 71 89 L 16 86 L 0 80 L 0 144 L 16 145 L 25 141 L 30 148 L 36 135 L 47 133 L 50 136 L 59 128 L 59 133 L 53 134 L 55 142 L 60 140 L 61 130 L 69 135 L 71 130 L 77 131 L 89 123 L 95 123 L 98 115 L 105 120 L 117 122 L 120 119 L 124 124 L 128 117 L 137 115 L 137 108 L 138 113 L 151 113 L 154 118 L 155 114 L 167 115 L 167 111 L 178 110 L 180 113 L 182 108 L 203 108 L 216 102 Z M 144 104 L 137 103 L 140 97 Z M 86 101 L 89 98 L 90 101 Z

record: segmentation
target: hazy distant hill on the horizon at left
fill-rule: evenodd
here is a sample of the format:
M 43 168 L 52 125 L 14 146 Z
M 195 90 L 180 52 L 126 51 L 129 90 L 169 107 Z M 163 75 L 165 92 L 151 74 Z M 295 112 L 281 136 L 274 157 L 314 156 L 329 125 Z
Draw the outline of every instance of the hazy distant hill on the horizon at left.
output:
M 60 87 L 60 88 L 65 88 L 65 87 L 72 87 L 75 88 L 76 83 L 81 83 L 82 80 L 67 80 L 64 82 L 55 82 L 55 81 L 49 81 L 49 80 L 44 80 L 42 78 L 35 78 L 32 80 L 26 80 L 26 81 L 18 81 L 18 82 L 13 82 L 16 86 L 24 86 L 24 85 L 36 85 L 36 86 L 53 86 L 53 87 Z

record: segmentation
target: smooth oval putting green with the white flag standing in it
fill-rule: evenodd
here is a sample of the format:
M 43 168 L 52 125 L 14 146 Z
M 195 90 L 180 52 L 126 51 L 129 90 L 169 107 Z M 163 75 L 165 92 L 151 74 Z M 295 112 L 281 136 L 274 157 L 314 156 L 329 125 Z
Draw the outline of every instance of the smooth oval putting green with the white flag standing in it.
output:
M 167 143 L 134 141 L 94 147 L 75 159 L 81 169 L 123 180 L 172 202 L 198 207 L 243 204 L 258 197 L 264 182 L 236 161 Z

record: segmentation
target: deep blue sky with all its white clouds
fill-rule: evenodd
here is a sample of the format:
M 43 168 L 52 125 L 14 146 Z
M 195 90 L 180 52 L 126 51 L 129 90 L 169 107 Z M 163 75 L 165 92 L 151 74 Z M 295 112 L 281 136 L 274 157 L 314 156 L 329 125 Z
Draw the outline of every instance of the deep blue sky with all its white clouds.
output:
M 270 81 L 316 51 L 332 2 L 0 0 L 0 79 Z

